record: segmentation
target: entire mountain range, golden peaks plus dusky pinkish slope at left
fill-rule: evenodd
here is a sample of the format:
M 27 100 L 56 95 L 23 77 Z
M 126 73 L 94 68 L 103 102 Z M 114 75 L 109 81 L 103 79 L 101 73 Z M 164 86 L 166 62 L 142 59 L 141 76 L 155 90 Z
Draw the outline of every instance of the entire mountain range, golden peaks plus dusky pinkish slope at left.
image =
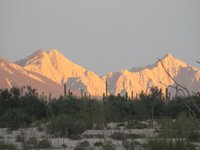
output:
M 162 64 L 170 75 L 190 93 L 200 91 L 200 70 L 183 61 L 174 58 L 171 54 L 165 55 Z M 32 86 L 38 92 L 58 97 L 63 95 L 63 85 L 73 91 L 75 95 L 80 92 L 93 97 L 102 97 L 106 91 L 117 95 L 136 96 L 149 92 L 151 87 L 158 87 L 163 91 L 168 87 L 171 95 L 175 94 L 174 81 L 167 75 L 159 61 L 146 67 L 110 72 L 99 76 L 86 68 L 67 59 L 56 49 L 46 52 L 37 50 L 32 55 L 16 61 L 9 62 L 0 58 L 0 88 L 13 86 Z

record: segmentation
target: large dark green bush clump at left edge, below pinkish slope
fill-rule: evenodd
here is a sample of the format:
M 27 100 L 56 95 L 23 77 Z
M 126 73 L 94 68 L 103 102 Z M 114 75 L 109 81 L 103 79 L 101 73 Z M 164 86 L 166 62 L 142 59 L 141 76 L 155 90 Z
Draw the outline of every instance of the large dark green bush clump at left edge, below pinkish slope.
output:
M 0 90 L 0 127 L 17 129 L 46 117 L 47 106 L 36 90 L 27 87 Z

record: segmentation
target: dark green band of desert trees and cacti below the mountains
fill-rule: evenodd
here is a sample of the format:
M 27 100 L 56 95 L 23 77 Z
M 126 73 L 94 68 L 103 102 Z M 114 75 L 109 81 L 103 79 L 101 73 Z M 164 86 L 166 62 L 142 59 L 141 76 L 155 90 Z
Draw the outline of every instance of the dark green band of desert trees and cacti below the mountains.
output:
M 200 96 L 193 95 L 192 99 L 200 106 Z M 27 127 L 33 122 L 51 120 L 50 132 L 62 126 L 72 127 L 67 134 L 78 133 L 92 128 L 92 124 L 127 121 L 132 119 L 156 119 L 161 117 L 176 118 L 181 113 L 189 113 L 185 105 L 187 101 L 195 112 L 190 98 L 176 97 L 166 100 L 156 88 L 146 95 L 141 93 L 137 99 L 130 100 L 123 96 L 108 96 L 104 100 L 78 99 L 73 95 L 66 98 L 44 100 L 38 96 L 35 89 L 11 88 L 0 90 L 0 127 L 17 129 Z M 196 111 L 197 117 L 200 114 Z M 62 132 L 65 134 L 65 128 Z M 62 135 L 60 135 L 62 136 Z

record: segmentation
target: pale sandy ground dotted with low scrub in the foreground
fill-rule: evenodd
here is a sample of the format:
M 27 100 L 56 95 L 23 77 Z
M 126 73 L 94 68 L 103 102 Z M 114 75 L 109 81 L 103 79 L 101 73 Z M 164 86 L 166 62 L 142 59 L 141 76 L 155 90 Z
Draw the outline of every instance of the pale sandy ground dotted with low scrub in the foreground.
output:
M 48 136 L 45 130 L 39 131 L 38 127 L 19 129 L 16 131 L 10 131 L 6 128 L 0 129 L 0 140 L 4 140 L 5 142 L 16 144 L 19 149 L 21 149 L 22 142 L 18 142 L 17 136 L 24 136 L 24 139 L 28 141 L 30 138 L 35 138 L 37 141 L 41 141 L 44 138 L 48 138 L 50 143 L 53 146 L 53 150 L 74 150 L 77 144 L 88 141 L 90 146 L 94 150 L 102 150 L 101 147 L 95 147 L 94 144 L 96 142 L 110 142 L 115 145 L 116 150 L 124 150 L 123 142 L 121 140 L 114 140 L 110 138 L 110 135 L 115 132 L 122 132 L 124 134 L 136 134 L 140 135 L 140 138 L 133 139 L 135 143 L 135 149 L 140 150 L 141 147 L 136 144 L 143 144 L 146 142 L 147 138 L 156 136 L 155 130 L 158 128 L 157 125 L 154 128 L 145 128 L 145 129 L 125 129 L 124 127 L 120 127 L 116 129 L 118 123 L 110 123 L 107 125 L 109 129 L 103 130 L 86 130 L 82 133 L 82 139 L 80 140 L 72 140 L 68 138 L 51 138 Z M 129 142 L 132 142 L 131 139 L 128 139 Z M 197 149 L 200 149 L 200 143 L 194 143 L 197 146 Z M 67 145 L 67 148 L 63 148 L 63 145 Z M 49 148 L 48 148 L 49 149 Z

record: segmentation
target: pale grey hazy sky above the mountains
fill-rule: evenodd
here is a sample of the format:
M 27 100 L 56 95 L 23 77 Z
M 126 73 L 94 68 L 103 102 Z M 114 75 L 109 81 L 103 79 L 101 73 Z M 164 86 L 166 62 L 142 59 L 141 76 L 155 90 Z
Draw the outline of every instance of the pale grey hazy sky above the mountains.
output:
M 0 55 L 56 48 L 100 75 L 170 52 L 198 66 L 200 0 L 0 0 Z

